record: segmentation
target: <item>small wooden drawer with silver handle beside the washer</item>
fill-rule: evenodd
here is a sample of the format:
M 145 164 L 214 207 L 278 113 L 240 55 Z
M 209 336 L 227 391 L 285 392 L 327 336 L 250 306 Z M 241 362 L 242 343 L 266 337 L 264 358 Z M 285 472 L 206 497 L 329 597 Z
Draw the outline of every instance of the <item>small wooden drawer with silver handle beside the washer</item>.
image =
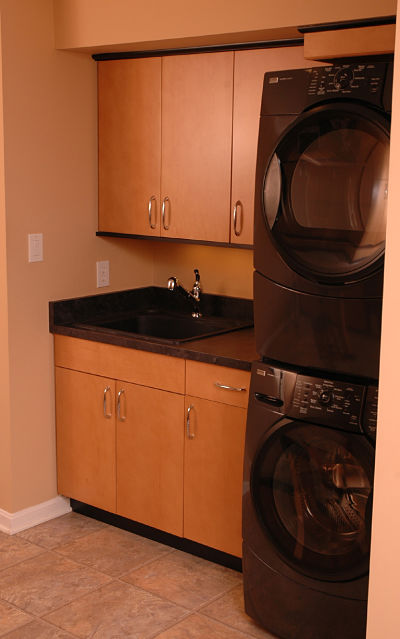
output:
M 186 395 L 247 408 L 249 386 L 248 371 L 186 361 Z

